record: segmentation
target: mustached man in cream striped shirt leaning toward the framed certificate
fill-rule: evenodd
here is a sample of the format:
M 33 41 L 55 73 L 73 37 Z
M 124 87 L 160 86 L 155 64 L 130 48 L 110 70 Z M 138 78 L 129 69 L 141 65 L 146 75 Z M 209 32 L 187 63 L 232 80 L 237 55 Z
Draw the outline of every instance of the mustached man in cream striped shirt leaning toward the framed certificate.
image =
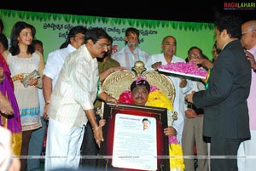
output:
M 84 125 L 88 121 L 96 144 L 100 147 L 103 141 L 93 103 L 97 97 L 117 104 L 102 89 L 96 60 L 108 52 L 108 41 L 109 35 L 102 28 L 89 29 L 85 44 L 68 54 L 62 66 L 49 101 L 45 170 L 79 168 Z

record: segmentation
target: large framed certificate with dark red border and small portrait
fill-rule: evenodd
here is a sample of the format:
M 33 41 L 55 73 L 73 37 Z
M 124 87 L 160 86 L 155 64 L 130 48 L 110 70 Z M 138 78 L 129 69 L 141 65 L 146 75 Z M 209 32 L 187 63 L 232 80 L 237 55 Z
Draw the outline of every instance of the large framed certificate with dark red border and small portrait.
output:
M 166 108 L 104 105 L 101 166 L 110 170 L 168 170 Z

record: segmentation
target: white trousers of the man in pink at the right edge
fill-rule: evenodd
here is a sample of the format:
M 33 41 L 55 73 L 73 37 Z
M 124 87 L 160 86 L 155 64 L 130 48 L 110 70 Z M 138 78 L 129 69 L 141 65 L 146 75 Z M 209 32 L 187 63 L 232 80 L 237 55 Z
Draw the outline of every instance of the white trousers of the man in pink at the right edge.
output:
M 237 151 L 237 166 L 239 171 L 254 171 L 256 163 L 256 130 L 251 131 L 251 140 L 241 143 Z

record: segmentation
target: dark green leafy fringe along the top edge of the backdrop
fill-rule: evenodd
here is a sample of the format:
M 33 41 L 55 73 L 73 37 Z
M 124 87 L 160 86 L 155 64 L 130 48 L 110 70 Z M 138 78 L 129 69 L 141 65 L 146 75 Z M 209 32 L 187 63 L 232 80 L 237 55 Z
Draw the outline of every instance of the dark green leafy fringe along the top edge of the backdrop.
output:
M 198 23 L 198 22 L 183 22 L 183 21 L 168 21 L 168 20 L 142 20 L 142 19 L 124 19 L 124 18 L 110 18 L 102 16 L 86 16 L 86 15 L 75 15 L 75 14 L 49 14 L 49 13 L 38 13 L 38 12 L 26 12 L 26 11 L 16 11 L 9 9 L 0 9 L 1 16 L 15 16 L 18 15 L 21 20 L 25 17 L 26 19 L 32 20 L 65 20 L 66 22 L 72 23 L 83 23 L 85 25 L 93 25 L 98 22 L 102 23 L 111 23 L 112 25 L 126 25 L 129 26 L 141 26 L 149 28 L 158 28 L 158 27 L 169 27 L 172 26 L 173 29 L 183 29 L 184 31 L 201 31 L 202 29 L 214 29 L 213 23 Z

